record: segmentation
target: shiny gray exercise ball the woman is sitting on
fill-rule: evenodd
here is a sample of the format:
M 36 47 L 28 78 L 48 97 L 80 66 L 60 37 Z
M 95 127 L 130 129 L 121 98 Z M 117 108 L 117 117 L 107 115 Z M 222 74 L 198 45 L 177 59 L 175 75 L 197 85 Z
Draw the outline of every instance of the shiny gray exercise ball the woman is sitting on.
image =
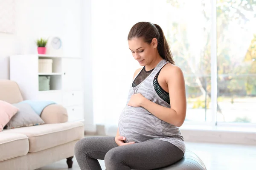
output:
M 155 170 L 206 170 L 203 161 L 192 151 L 186 149 L 185 155 L 180 161 L 167 167 Z

